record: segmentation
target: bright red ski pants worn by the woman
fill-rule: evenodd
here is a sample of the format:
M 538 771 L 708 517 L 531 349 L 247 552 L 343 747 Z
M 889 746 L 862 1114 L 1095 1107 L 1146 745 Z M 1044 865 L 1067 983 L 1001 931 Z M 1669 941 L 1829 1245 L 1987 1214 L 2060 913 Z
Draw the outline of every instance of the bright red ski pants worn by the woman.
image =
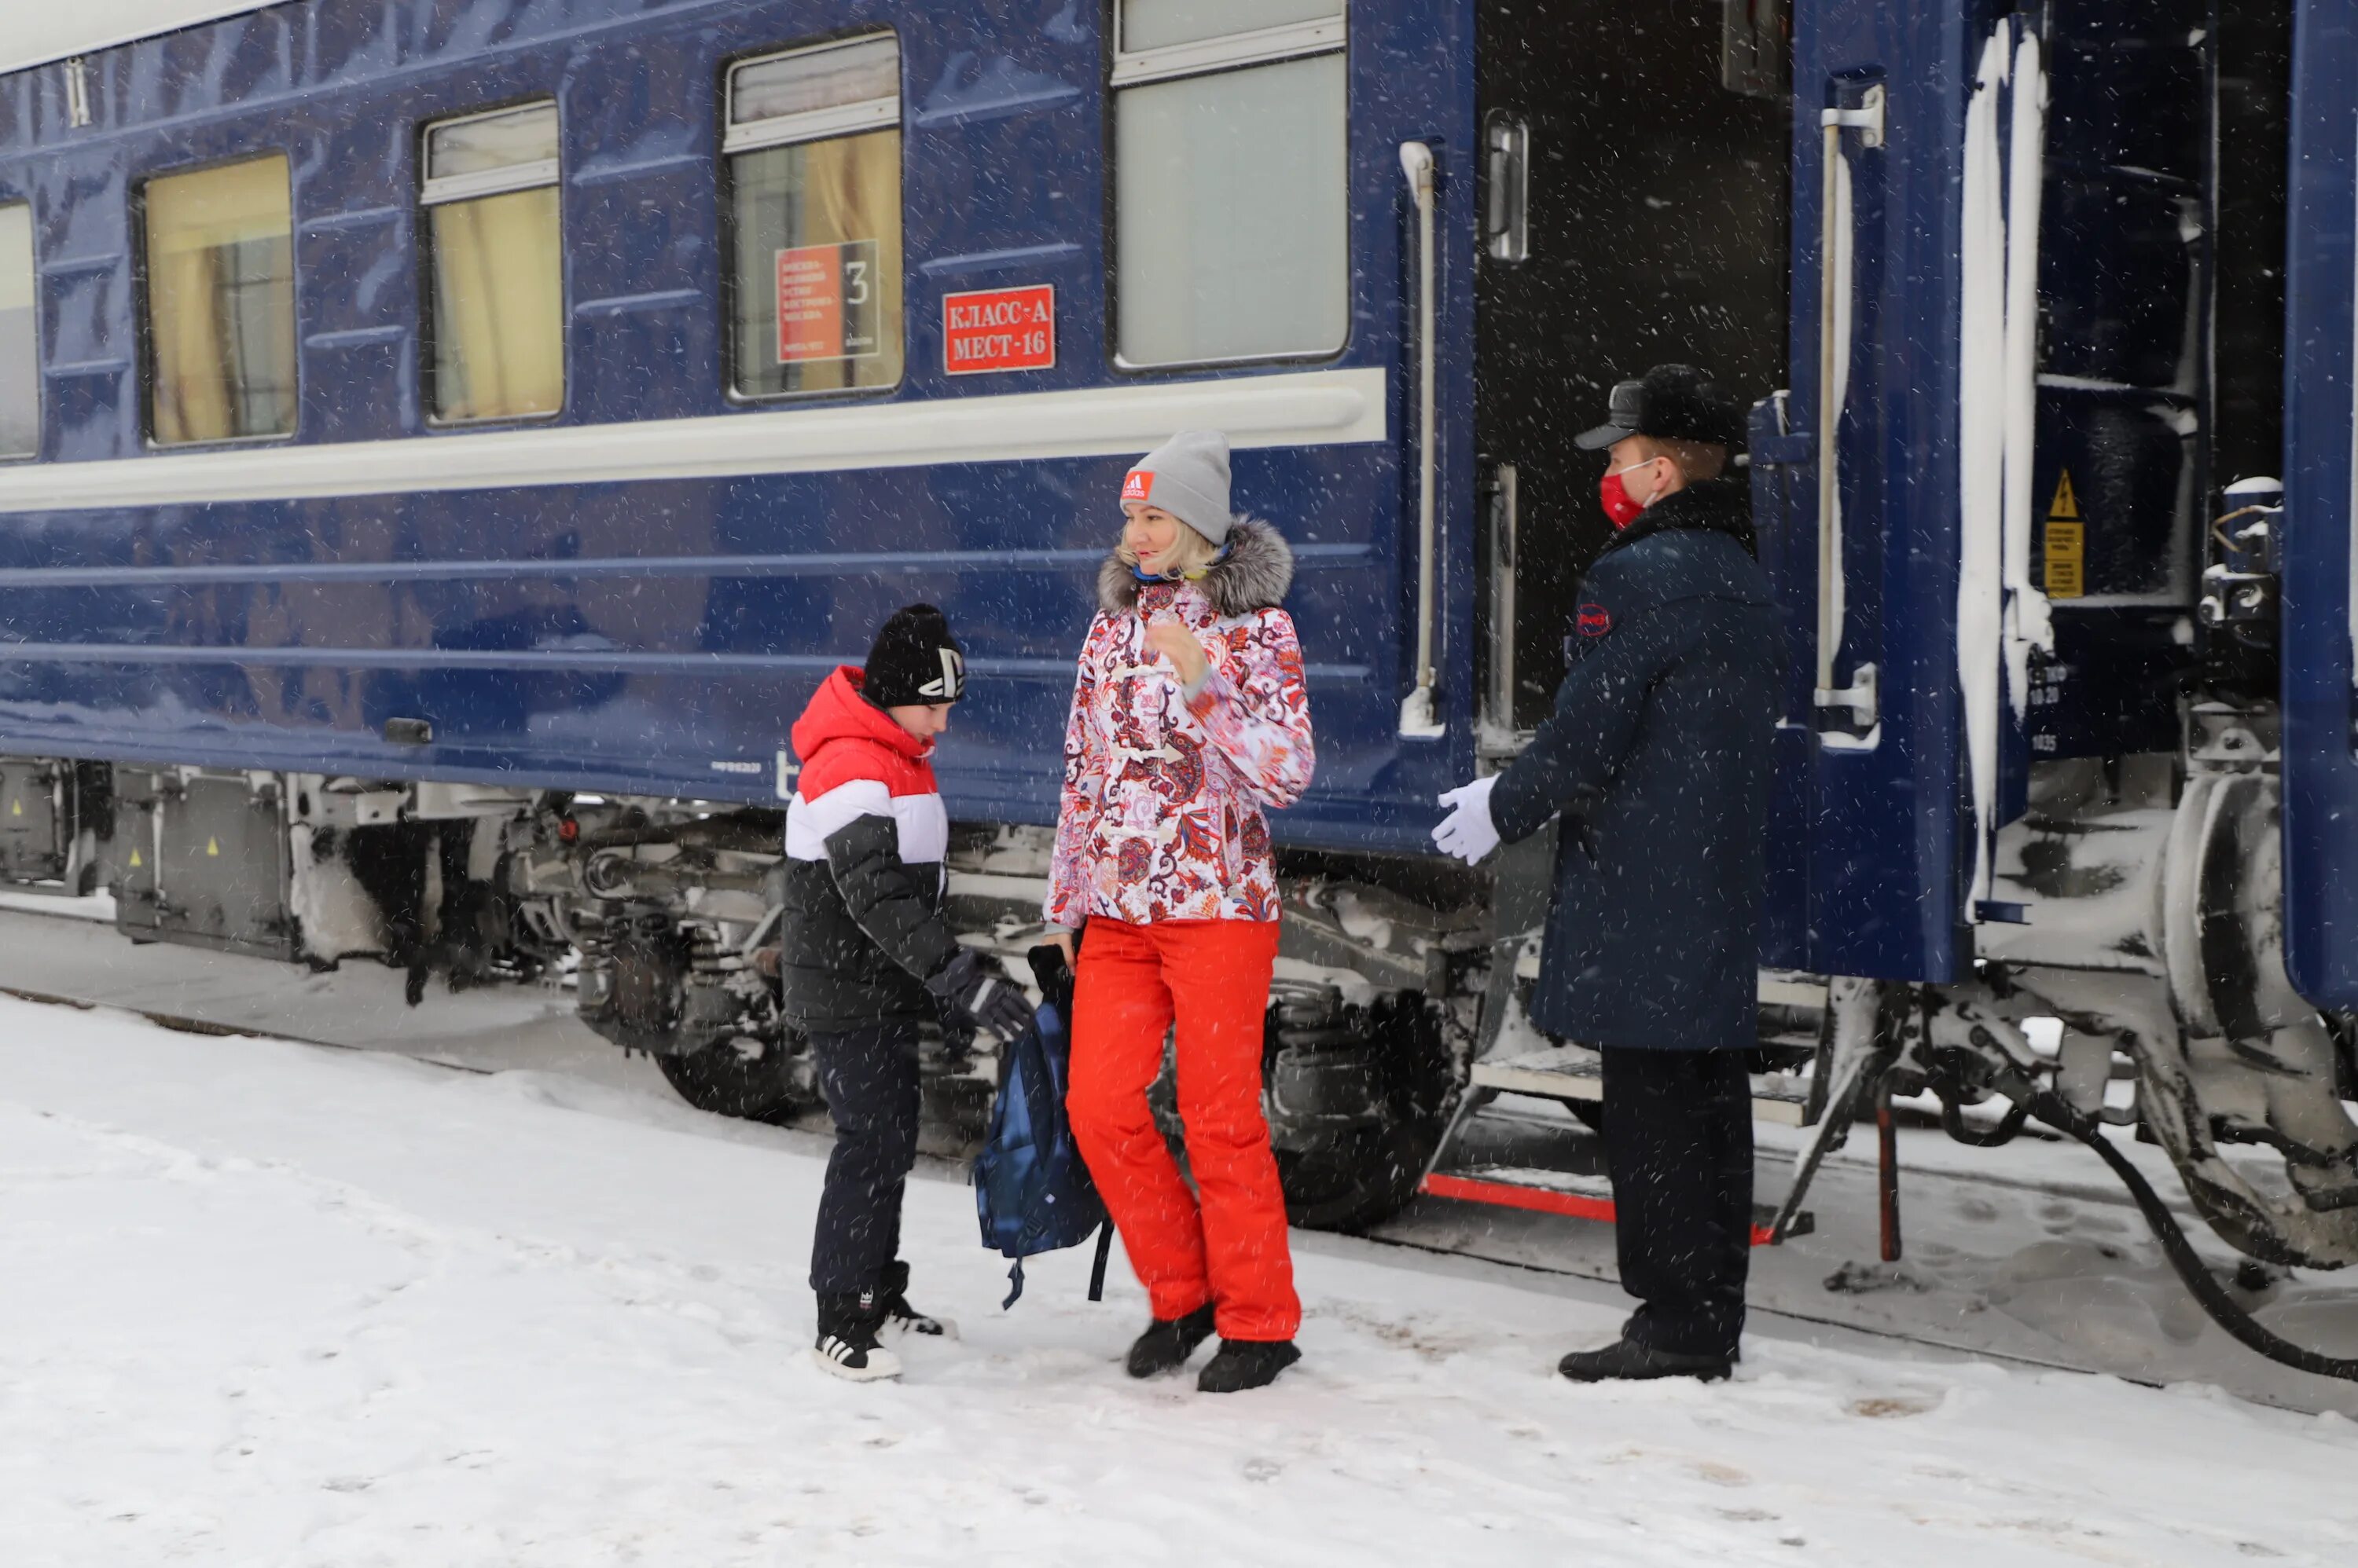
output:
M 1262 1118 L 1262 1016 L 1278 922 L 1089 920 L 1073 986 L 1066 1115 L 1155 1318 L 1214 1304 L 1221 1339 L 1302 1327 L 1285 1193 Z M 1179 1120 L 1198 1205 L 1146 1108 L 1177 1030 Z

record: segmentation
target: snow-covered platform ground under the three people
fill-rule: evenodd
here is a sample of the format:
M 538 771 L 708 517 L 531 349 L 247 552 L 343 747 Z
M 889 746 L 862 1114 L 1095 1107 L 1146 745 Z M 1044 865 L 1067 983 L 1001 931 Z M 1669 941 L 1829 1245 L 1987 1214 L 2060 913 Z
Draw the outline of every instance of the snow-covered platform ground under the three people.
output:
M 1578 1389 L 1618 1311 L 1306 1238 L 1276 1389 L 1134 1384 L 1085 1257 L 1000 1313 L 913 1184 L 901 1386 L 806 1358 L 823 1144 L 545 1073 L 0 1000 L 0 1561 L 2327 1563 L 2358 1427 L 1759 1337 Z M 1474 1278 L 1469 1278 L 1474 1276 Z

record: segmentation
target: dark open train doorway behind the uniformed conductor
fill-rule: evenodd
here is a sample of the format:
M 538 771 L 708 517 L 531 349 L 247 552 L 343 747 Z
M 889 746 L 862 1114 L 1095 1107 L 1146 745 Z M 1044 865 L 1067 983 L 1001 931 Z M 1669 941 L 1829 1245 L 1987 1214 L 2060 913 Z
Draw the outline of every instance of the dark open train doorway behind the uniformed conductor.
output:
M 1476 448 L 1483 731 L 1511 745 L 1563 677 L 1608 523 L 1570 441 L 1613 382 L 1785 384 L 1785 0 L 1478 0 Z

